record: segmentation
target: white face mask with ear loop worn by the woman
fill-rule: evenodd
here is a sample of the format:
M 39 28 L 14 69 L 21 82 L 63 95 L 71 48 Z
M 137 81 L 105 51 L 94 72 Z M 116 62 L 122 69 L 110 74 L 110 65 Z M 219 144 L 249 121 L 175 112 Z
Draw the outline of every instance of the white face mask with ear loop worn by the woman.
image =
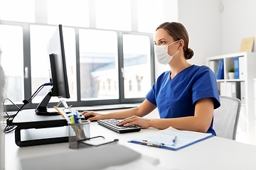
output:
M 176 40 L 176 42 L 178 42 L 178 40 Z M 178 53 L 178 51 L 174 54 L 174 55 L 169 55 L 168 54 L 168 47 L 176 42 L 172 42 L 169 45 L 155 45 L 155 56 L 157 61 L 160 64 L 169 64 L 169 62 L 171 62 L 171 59 L 174 57 L 174 55 L 176 55 Z

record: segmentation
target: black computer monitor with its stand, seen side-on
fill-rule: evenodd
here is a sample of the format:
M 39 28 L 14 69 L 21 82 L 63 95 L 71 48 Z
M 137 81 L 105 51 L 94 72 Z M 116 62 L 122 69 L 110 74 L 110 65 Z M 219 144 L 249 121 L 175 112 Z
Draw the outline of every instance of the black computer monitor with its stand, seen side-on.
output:
M 50 81 L 53 83 L 53 88 L 50 92 L 43 98 L 43 101 L 39 103 L 36 108 L 37 115 L 58 115 L 57 111 L 48 111 L 47 105 L 52 96 L 57 96 L 60 98 L 70 98 L 69 88 L 68 88 L 68 75 L 65 62 L 65 50 L 63 42 L 63 30 L 62 26 L 59 25 L 58 28 L 53 33 L 47 45 L 47 52 L 50 57 L 50 71 L 51 78 Z

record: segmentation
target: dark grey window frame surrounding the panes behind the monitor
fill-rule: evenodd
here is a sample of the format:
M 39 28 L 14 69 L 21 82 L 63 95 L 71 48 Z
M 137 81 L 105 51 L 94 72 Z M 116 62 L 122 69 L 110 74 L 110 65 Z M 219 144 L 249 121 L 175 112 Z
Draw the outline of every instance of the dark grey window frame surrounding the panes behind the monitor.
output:
M 31 42 L 30 42 L 30 26 L 56 26 L 50 24 L 39 24 L 39 23 L 22 23 L 15 21 L 1 21 L 1 25 L 10 26 L 21 26 L 23 28 L 23 75 L 28 74 L 28 78 L 24 79 L 24 97 L 28 99 L 31 97 Z M 56 26 L 57 27 L 57 26 Z M 155 67 L 154 67 L 154 37 L 152 33 L 139 33 L 132 31 L 123 30 L 111 30 L 117 33 L 117 55 L 118 55 L 118 82 L 116 86 L 119 86 L 119 98 L 118 99 L 104 99 L 104 100 L 92 100 L 92 101 L 81 101 L 80 95 L 80 49 L 79 49 L 79 29 L 90 29 L 90 30 L 105 30 L 98 28 L 82 28 L 76 26 L 63 26 L 67 28 L 74 28 L 75 30 L 75 55 L 76 55 L 76 76 L 77 76 L 77 101 L 67 101 L 68 106 L 81 107 L 81 106 L 99 106 L 99 105 L 112 105 L 112 104 L 124 104 L 124 103 L 141 103 L 145 98 L 124 98 L 124 78 L 122 77 L 122 69 L 124 68 L 124 54 L 123 54 L 123 35 L 146 35 L 149 36 L 150 40 L 150 67 L 151 67 L 151 86 L 155 81 Z M 28 73 L 25 73 L 25 68 L 28 68 Z M 46 82 L 42 82 L 46 83 Z M 11 98 L 10 98 L 11 99 Z M 64 98 L 65 99 L 65 98 Z M 21 101 L 22 102 L 22 101 Z M 49 107 L 53 107 L 57 102 L 49 103 Z M 17 104 L 21 107 L 22 104 Z M 36 108 L 38 103 L 28 103 L 24 108 Z M 6 111 L 16 111 L 17 108 L 13 105 L 6 105 Z

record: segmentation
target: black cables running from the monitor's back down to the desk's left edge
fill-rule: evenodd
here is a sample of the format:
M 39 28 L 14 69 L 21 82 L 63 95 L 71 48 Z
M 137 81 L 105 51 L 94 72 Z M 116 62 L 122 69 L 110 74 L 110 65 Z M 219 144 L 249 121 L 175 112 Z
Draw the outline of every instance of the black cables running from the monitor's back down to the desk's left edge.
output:
M 6 113 L 6 115 L 8 115 L 9 118 L 7 118 L 6 120 L 6 127 L 4 128 L 4 133 L 9 133 L 9 132 L 12 132 L 16 129 L 16 125 L 13 124 L 13 120 L 14 118 L 16 117 L 16 115 L 22 110 L 22 108 L 24 106 L 26 106 L 26 104 L 30 103 L 34 97 L 36 97 L 36 95 L 39 93 L 39 91 L 41 91 L 43 89 L 44 86 L 51 86 L 53 85 L 53 83 L 46 83 L 46 84 L 42 84 L 41 86 L 38 87 L 38 89 L 35 91 L 35 93 L 30 97 L 28 98 L 28 100 L 23 100 L 23 105 L 21 106 L 21 108 L 19 108 L 18 106 L 16 106 L 16 104 L 14 102 L 12 102 L 9 98 L 5 98 L 4 99 L 4 102 L 6 100 L 9 100 L 11 101 L 11 103 L 14 104 L 14 106 L 16 106 L 16 108 L 18 108 L 18 111 L 14 114 L 14 115 L 9 115 L 5 109 L 5 105 L 4 105 L 4 102 L 3 102 L 3 105 L 4 105 L 4 111 Z

